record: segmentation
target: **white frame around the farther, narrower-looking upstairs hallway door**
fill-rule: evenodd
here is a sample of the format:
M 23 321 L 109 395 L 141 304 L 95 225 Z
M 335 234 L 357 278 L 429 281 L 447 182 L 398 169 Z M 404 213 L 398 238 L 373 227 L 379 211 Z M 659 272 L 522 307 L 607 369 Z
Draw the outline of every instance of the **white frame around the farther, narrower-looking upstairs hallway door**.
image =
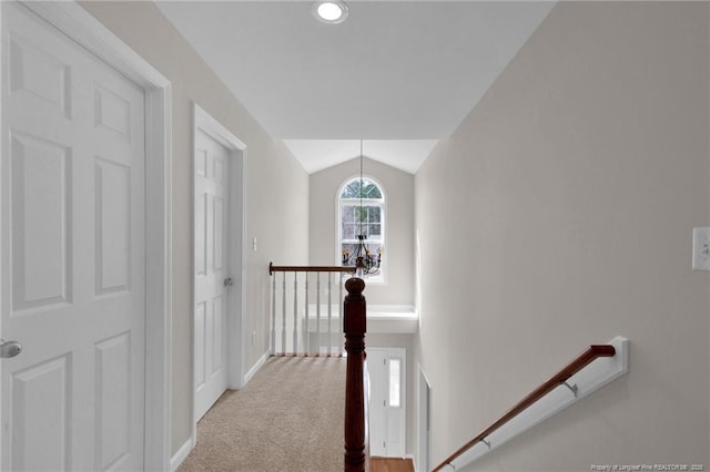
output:
M 235 283 L 227 297 L 226 314 L 226 387 L 239 390 L 244 386 L 243 376 L 243 314 L 245 310 L 246 294 L 246 144 L 236 137 L 223 124 L 216 121 L 210 113 L 204 111 L 195 102 L 192 104 L 193 127 L 192 127 L 192 234 L 195 234 L 195 175 L 197 173 L 195 155 L 197 152 L 197 131 L 203 132 L 217 143 L 222 144 L 230 153 L 229 163 L 229 235 L 227 254 L 230 275 L 235 278 Z M 194 270 L 195 240 L 192 240 L 192 299 L 195 299 L 196 274 Z M 194 305 L 194 302 L 193 302 Z M 194 310 L 194 306 L 193 309 Z M 194 312 L 193 312 L 194 315 Z M 192 332 L 192 447 L 197 439 L 197 422 L 195 419 L 195 357 L 196 342 L 194 329 Z

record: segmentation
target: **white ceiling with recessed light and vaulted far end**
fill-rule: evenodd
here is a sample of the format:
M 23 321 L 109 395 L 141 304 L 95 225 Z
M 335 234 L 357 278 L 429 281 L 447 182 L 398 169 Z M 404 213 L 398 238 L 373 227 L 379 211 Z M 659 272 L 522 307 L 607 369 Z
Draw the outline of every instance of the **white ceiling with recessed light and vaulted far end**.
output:
M 554 2 L 159 1 L 234 95 L 308 172 L 364 154 L 415 173 Z

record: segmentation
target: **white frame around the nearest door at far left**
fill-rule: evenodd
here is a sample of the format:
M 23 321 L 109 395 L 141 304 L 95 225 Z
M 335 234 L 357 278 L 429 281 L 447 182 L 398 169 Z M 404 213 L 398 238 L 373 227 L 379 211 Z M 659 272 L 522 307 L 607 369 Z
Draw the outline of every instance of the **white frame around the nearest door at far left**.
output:
M 146 343 L 143 464 L 145 470 L 169 470 L 172 402 L 171 83 L 78 3 L 22 2 L 22 4 L 145 91 L 145 182 L 148 185 L 145 188 Z M 0 86 L 4 85 L 0 83 Z M 4 148 L 3 140 L 6 138 L 0 136 L 0 148 Z

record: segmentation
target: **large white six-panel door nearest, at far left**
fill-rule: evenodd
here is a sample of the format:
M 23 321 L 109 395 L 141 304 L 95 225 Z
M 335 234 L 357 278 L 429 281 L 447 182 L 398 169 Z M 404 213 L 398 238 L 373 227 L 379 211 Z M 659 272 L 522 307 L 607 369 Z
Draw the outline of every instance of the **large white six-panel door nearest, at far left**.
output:
M 2 4 L 2 470 L 141 470 L 143 91 Z

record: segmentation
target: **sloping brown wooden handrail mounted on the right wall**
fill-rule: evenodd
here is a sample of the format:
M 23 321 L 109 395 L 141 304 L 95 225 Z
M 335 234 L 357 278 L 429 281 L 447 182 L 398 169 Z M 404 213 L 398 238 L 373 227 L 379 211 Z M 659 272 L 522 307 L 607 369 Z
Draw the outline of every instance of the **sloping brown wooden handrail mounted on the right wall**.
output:
M 516 403 L 510 410 L 508 410 L 504 415 L 501 415 L 498 420 L 496 420 L 488 428 L 478 433 L 474 439 L 468 441 L 466 444 L 462 445 L 456 450 L 452 455 L 446 458 L 444 462 L 438 464 L 433 472 L 437 472 L 443 470 L 447 465 L 452 465 L 452 462 L 463 455 L 466 451 L 478 444 L 479 442 L 486 442 L 486 438 L 488 438 L 494 431 L 498 430 L 505 423 L 510 421 L 513 418 L 520 414 L 524 410 L 536 403 L 542 397 L 555 390 L 561 384 L 566 384 L 567 380 L 570 377 L 582 370 L 594 360 L 600 357 L 613 357 L 616 355 L 616 348 L 611 345 L 592 345 L 582 353 L 577 356 L 571 362 L 560 369 L 555 376 L 552 376 L 548 381 L 539 386 L 537 389 L 532 390 L 527 397 Z M 575 391 L 575 387 L 567 387 Z

